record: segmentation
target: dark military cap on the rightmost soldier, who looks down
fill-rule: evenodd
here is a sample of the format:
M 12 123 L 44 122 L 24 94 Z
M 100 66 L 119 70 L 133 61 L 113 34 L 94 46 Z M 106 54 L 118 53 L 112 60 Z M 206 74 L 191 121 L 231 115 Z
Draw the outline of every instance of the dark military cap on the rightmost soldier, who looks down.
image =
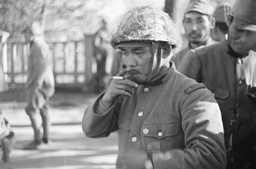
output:
M 236 0 L 230 15 L 244 30 L 256 31 L 256 0 Z

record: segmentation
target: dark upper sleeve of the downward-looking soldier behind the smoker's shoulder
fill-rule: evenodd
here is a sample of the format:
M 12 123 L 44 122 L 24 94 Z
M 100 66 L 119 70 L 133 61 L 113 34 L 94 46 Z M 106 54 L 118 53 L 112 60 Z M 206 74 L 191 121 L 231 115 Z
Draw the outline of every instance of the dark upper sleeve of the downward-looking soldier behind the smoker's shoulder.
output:
M 190 50 L 180 61 L 177 70 L 183 75 L 201 82 L 202 64 L 194 50 Z

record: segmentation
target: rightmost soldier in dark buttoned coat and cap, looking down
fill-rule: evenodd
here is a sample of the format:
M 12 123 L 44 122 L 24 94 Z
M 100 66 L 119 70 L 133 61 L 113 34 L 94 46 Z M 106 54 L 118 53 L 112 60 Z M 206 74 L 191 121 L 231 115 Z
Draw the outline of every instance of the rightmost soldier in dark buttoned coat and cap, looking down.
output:
M 227 169 L 256 169 L 256 1 L 225 8 L 227 38 L 189 51 L 177 69 L 214 93 L 221 109 Z

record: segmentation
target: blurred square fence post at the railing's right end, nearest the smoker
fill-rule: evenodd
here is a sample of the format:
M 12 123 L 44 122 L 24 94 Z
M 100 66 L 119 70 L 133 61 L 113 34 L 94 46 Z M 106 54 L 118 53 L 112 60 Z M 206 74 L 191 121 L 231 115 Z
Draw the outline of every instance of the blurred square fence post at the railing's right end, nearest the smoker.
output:
M 84 57 L 85 57 L 85 88 L 84 90 L 92 91 L 91 82 L 93 80 L 92 58 L 94 54 L 94 35 L 84 34 Z

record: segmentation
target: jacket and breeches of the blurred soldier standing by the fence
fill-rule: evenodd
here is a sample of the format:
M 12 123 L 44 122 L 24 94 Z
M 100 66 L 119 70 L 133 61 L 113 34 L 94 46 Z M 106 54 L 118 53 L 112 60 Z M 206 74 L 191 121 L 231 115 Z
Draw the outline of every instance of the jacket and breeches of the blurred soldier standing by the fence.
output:
M 39 112 L 55 91 L 50 50 L 43 38 L 37 37 L 31 43 L 27 63 L 28 107 L 26 113 L 29 114 Z

